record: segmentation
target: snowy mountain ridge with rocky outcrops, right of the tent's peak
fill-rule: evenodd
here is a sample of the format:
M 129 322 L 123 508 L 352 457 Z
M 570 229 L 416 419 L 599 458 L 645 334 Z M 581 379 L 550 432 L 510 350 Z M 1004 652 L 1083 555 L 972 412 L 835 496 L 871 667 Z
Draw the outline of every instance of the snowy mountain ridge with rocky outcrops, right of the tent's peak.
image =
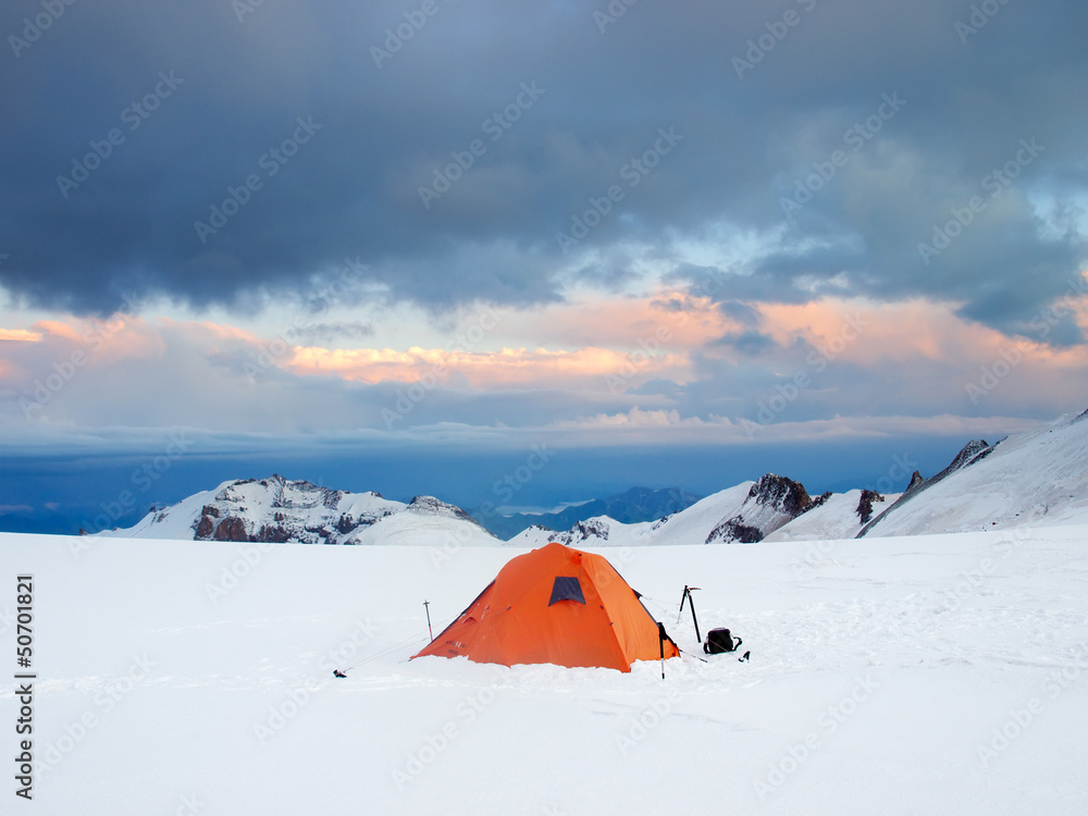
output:
M 1003 530 L 1088 523 L 1088 411 L 1009 436 L 967 443 L 929 479 L 915 473 L 902 495 L 854 490 L 811 498 L 804 485 L 768 473 L 715 493 L 653 523 L 608 517 L 566 532 L 532 528 L 518 546 L 729 544 Z

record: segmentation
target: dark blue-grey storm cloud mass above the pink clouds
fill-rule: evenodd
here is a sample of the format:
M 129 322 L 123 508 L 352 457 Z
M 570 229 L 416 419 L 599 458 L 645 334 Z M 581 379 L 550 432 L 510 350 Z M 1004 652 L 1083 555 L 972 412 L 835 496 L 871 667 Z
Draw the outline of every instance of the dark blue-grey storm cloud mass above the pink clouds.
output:
M 9 3 L 0 282 L 305 300 L 361 258 L 392 299 L 527 305 L 727 225 L 776 237 L 716 298 L 924 296 L 1029 332 L 1084 262 L 1083 3 L 425 5 L 76 2 L 32 41 L 45 7 Z

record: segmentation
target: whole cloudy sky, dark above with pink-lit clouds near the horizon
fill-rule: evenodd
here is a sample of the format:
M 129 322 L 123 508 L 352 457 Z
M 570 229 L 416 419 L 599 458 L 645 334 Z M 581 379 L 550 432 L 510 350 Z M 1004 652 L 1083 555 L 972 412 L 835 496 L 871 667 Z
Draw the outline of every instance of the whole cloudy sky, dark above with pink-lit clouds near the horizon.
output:
M 1083 410 L 1085 30 L 1072 0 L 7 3 L 0 529 L 272 472 L 901 489 Z

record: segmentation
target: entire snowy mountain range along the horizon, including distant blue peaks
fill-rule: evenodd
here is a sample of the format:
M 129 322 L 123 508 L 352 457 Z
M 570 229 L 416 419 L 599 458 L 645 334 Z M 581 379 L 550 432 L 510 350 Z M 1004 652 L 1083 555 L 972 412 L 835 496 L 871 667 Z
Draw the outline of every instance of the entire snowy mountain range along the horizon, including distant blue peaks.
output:
M 484 528 L 486 522 L 491 531 Z M 224 482 L 99 535 L 306 544 L 460 546 L 551 541 L 579 546 L 752 544 L 1088 523 L 1088 411 L 996 444 L 967 443 L 902 495 L 854 490 L 809 496 L 767 473 L 697 498 L 632 489 L 558 512 L 472 518 L 431 496 L 410 503 L 280 475 Z M 516 532 L 510 532 L 516 531 Z M 497 533 L 497 535 L 495 534 Z

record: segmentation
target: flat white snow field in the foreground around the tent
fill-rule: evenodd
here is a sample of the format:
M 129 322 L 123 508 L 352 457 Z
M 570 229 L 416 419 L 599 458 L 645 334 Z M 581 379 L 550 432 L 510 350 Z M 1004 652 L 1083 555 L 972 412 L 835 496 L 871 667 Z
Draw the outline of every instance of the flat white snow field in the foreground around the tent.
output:
M 2 534 L 0 664 L 29 572 L 38 672 L 34 801 L 4 812 L 1084 814 L 1086 539 L 599 551 L 692 653 L 663 681 L 406 662 L 423 601 L 437 633 L 511 547 Z M 750 663 L 695 659 L 684 584 Z

